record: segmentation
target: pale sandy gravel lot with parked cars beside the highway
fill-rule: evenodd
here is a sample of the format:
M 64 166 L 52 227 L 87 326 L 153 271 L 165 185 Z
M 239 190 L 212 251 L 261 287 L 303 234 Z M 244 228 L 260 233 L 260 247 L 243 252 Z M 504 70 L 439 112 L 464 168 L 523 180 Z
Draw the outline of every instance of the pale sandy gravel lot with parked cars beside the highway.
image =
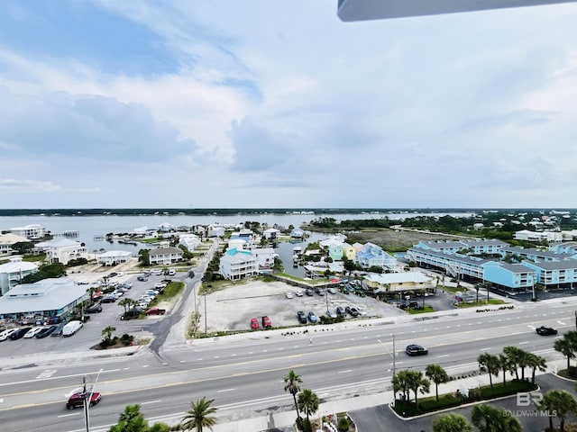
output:
M 326 302 L 329 308 L 354 305 L 367 312 L 367 317 L 386 318 L 402 315 L 405 312 L 385 302 L 355 294 L 327 294 L 320 296 L 294 296 L 288 299 L 287 292 L 294 293 L 295 287 L 281 282 L 265 283 L 253 281 L 225 288 L 206 296 L 206 326 L 208 332 L 223 330 L 249 330 L 252 318 L 261 321 L 263 315 L 269 316 L 273 327 L 298 326 L 297 311 L 314 311 L 316 316 L 325 315 Z M 204 299 L 197 299 L 198 312 L 202 316 L 199 327 L 204 329 Z M 347 320 L 352 320 L 347 317 Z

